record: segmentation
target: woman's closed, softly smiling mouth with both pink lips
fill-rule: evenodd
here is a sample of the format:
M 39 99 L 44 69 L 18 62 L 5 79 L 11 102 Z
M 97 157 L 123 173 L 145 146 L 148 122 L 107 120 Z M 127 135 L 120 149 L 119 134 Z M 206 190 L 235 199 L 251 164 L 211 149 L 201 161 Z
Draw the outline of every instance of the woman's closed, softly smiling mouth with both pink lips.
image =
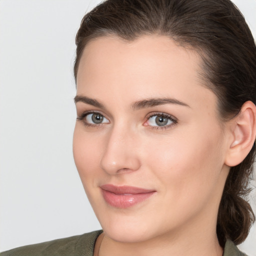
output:
M 128 208 L 148 199 L 156 191 L 134 186 L 115 186 L 104 184 L 100 186 L 104 200 L 116 208 Z

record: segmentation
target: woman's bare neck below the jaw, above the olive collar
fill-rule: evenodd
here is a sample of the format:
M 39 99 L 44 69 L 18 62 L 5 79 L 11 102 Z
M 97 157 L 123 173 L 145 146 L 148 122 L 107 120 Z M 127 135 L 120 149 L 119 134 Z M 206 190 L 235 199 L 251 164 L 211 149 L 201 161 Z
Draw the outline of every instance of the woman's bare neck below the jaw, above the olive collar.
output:
M 184 223 L 183 227 L 139 242 L 119 242 L 106 233 L 99 256 L 221 256 L 223 248 L 216 235 L 216 219 L 206 214 Z

